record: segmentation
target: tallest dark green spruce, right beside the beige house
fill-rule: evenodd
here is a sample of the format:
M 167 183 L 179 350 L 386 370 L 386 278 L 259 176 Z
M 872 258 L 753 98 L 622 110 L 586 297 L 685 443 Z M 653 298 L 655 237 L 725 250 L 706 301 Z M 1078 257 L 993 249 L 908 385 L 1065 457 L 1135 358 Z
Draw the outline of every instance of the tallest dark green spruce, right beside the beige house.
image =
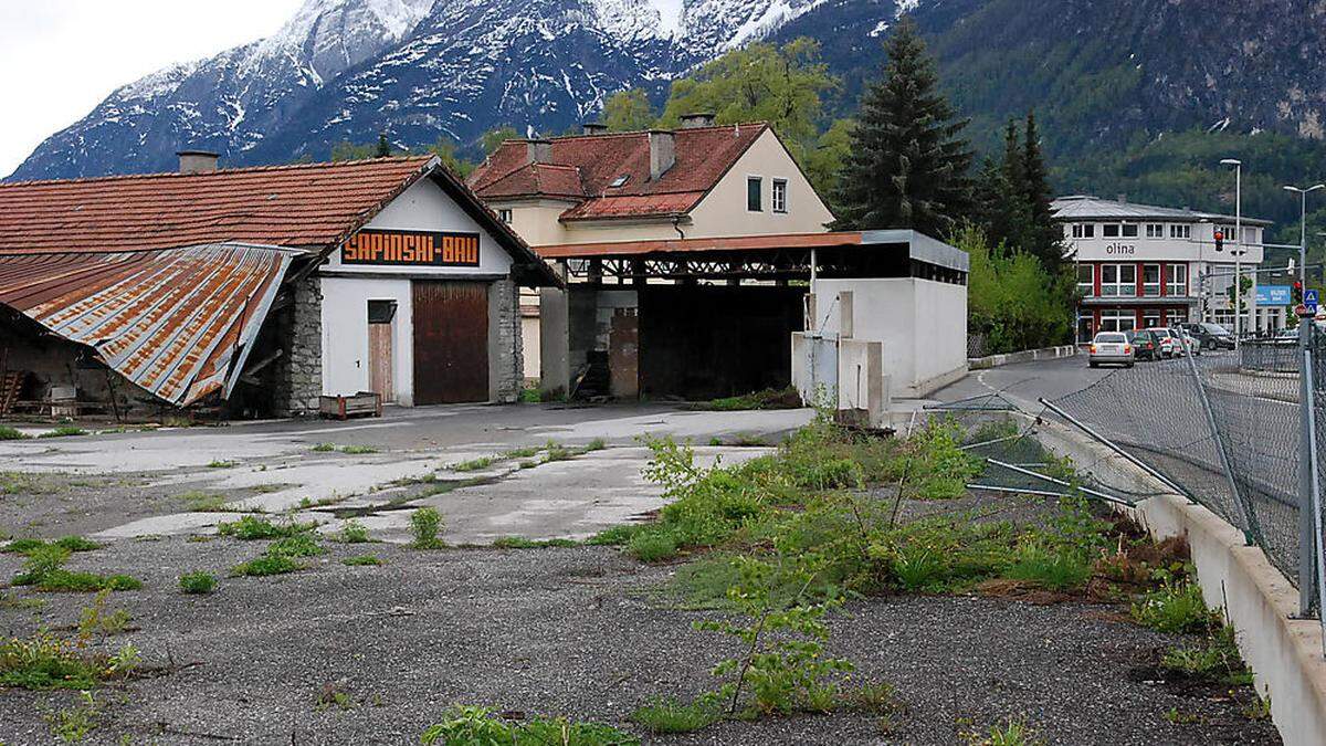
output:
M 883 77 L 861 100 L 835 204 L 835 230 L 912 228 L 947 236 L 972 208 L 972 151 L 937 90 L 935 62 L 915 23 L 884 44 Z

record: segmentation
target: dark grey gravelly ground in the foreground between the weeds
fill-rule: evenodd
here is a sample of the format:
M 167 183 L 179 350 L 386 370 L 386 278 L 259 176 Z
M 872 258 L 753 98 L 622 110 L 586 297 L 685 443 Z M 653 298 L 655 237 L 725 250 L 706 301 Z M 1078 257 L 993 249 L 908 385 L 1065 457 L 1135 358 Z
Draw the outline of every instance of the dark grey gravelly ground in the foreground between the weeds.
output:
M 713 612 L 666 608 L 642 593 L 670 568 L 607 547 L 414 551 L 337 544 L 274 577 L 223 577 L 186 596 L 176 577 L 223 575 L 265 542 L 123 540 L 73 556 L 70 569 L 129 572 L 145 588 L 115 593 L 137 645 L 158 670 L 102 688 L 95 742 L 410 743 L 452 704 L 599 719 L 631 730 L 647 698 L 716 686 L 709 668 L 732 644 L 692 629 Z M 377 554 L 382 567 L 341 559 Z M 20 558 L 0 555 L 0 576 Z M 37 611 L 0 603 L 0 632 L 30 634 L 77 620 L 90 595 L 7 588 Z M 1025 717 L 1050 743 L 1278 743 L 1235 693 L 1185 689 L 1148 673 L 1177 637 L 1138 628 L 1116 607 L 1036 607 L 984 597 L 890 597 L 849 604 L 829 649 L 858 680 L 888 681 L 906 711 L 894 730 L 863 713 L 725 722 L 659 743 L 953 743 Z M 680 654 L 679 654 L 680 653 Z M 329 684 L 354 700 L 318 708 Z M 0 690 L 0 741 L 46 743 L 42 711 L 73 693 Z M 1171 709 L 1196 715 L 1175 725 Z

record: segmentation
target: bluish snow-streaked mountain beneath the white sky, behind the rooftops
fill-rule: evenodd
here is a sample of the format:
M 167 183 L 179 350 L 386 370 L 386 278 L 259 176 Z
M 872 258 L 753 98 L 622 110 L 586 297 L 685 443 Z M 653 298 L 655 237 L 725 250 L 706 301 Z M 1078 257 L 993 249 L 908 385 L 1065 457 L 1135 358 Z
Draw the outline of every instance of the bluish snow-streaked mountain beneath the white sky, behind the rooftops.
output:
M 306 0 L 269 38 L 117 89 L 12 178 L 168 170 L 180 147 L 241 165 L 379 131 L 402 145 L 560 131 L 821 1 Z

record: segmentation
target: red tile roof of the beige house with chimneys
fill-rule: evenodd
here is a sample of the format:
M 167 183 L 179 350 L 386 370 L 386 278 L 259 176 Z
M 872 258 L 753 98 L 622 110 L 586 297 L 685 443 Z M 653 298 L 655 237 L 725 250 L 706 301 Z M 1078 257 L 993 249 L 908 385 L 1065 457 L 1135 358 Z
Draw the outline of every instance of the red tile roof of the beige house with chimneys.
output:
M 658 181 L 650 181 L 648 133 L 553 138 L 549 163 L 538 165 L 528 162 L 528 141 L 509 139 L 475 169 L 469 186 L 481 199 L 582 200 L 564 220 L 684 215 L 768 129 L 756 122 L 676 130 L 676 162 Z M 626 182 L 613 187 L 621 177 Z

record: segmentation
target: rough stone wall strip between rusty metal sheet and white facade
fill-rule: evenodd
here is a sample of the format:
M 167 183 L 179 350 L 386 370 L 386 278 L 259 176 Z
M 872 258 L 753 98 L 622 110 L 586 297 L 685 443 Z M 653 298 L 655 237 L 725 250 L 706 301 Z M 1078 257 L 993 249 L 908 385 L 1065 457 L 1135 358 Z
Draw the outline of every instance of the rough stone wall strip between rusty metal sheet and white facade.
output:
M 276 414 L 316 414 L 322 396 L 322 292 L 317 275 L 292 288 L 294 301 L 281 309 L 277 338 L 285 350 L 274 373 Z

